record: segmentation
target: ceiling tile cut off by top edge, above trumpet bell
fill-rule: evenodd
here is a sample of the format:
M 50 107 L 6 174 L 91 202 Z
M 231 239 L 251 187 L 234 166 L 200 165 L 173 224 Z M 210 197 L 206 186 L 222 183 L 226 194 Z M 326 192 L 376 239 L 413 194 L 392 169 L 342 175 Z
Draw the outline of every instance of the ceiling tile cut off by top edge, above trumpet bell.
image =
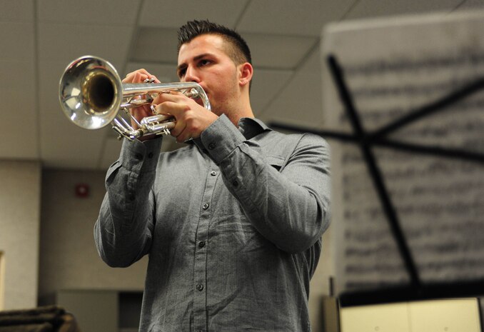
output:
M 116 2 L 99 0 L 39 0 L 36 2 L 37 16 L 41 23 L 126 26 L 136 22 L 138 6 L 141 0 L 116 0 Z M 97 29 L 102 30 L 102 27 L 98 26 Z

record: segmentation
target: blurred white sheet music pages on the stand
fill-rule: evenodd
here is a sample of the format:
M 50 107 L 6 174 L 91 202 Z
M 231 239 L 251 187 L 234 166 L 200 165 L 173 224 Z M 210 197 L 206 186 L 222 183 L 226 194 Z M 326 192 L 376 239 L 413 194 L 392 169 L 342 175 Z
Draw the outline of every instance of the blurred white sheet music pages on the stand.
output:
M 365 131 L 375 131 L 484 77 L 484 13 L 328 26 L 333 54 Z M 352 133 L 331 75 L 326 129 Z M 388 135 L 484 154 L 484 91 Z M 408 283 L 408 273 L 358 146 L 330 140 L 338 292 Z M 484 280 L 484 164 L 373 147 L 421 281 Z

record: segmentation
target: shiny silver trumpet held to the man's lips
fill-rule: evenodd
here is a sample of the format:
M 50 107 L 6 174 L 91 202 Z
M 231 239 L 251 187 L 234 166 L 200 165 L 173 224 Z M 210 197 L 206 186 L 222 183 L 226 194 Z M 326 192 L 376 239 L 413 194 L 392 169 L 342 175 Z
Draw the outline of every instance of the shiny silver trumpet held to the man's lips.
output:
M 129 109 L 151 104 L 157 94 L 178 91 L 192 99 L 201 99 L 211 110 L 202 87 L 195 82 L 122 83 L 108 61 L 96 56 L 81 56 L 67 66 L 59 84 L 59 101 L 64 114 L 85 129 L 99 129 L 111 124 L 129 140 L 156 134 L 168 135 L 176 124 L 171 115 L 158 114 L 137 121 Z M 134 129 L 131 124 L 136 124 Z

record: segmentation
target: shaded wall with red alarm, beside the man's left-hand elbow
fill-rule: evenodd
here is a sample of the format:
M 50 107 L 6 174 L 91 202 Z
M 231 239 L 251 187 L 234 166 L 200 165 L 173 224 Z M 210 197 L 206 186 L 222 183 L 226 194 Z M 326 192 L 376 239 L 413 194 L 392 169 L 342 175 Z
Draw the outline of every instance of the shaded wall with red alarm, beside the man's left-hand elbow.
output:
M 129 268 L 110 268 L 96 251 L 94 223 L 104 188 L 104 172 L 46 170 L 42 176 L 39 297 L 52 301 L 59 290 L 142 290 L 146 258 Z M 89 196 L 75 187 L 86 183 Z

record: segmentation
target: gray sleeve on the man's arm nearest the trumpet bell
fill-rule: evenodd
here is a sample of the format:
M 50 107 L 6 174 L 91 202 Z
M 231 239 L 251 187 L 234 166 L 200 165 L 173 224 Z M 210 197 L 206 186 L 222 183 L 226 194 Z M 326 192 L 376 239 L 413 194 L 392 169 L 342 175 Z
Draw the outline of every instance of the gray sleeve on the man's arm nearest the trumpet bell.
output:
M 106 174 L 106 195 L 94 226 L 99 256 L 129 266 L 148 253 L 153 231 L 153 181 L 161 139 L 123 141 L 119 160 Z

